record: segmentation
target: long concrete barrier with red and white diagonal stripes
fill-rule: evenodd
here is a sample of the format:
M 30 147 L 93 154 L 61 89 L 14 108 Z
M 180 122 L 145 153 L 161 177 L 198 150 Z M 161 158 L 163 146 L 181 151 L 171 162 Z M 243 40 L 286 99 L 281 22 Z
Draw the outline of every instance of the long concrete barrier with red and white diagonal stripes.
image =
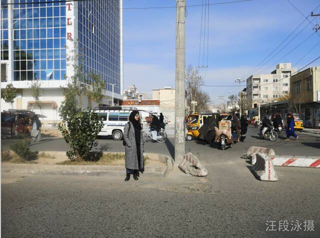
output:
M 319 156 L 270 156 L 274 166 L 320 168 Z

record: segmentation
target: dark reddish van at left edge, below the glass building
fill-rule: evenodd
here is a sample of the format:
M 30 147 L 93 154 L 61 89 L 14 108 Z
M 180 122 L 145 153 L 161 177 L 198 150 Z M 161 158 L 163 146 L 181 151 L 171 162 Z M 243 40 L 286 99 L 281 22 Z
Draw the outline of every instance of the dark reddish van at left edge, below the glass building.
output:
M 1 137 L 29 136 L 34 115 L 46 117 L 27 110 L 9 109 L 1 112 Z

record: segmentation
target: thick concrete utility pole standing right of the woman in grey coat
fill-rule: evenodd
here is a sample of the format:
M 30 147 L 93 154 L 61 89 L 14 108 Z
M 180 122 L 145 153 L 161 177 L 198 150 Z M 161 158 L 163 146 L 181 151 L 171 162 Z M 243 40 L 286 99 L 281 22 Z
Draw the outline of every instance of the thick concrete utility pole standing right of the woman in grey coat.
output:
M 185 140 L 185 0 L 176 0 L 175 27 L 174 161 L 179 163 L 183 159 Z

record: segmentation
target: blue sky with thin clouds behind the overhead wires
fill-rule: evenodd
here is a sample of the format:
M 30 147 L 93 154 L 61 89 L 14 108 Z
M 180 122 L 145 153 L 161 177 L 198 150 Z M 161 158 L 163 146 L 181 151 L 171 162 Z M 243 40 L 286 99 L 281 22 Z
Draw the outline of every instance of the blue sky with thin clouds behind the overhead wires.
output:
M 210 0 L 209 3 L 226 1 L 231 0 Z M 305 16 L 320 5 L 319 0 L 290 1 Z M 205 3 L 207 0 L 186 0 L 187 5 L 202 2 Z M 123 8 L 174 5 L 175 0 L 123 0 Z M 204 14 L 205 9 L 206 12 L 209 11 L 208 14 Z M 201 11 L 202 43 L 199 63 Z M 320 6 L 314 13 L 320 13 Z M 236 78 L 244 76 L 258 65 L 303 19 L 304 17 L 287 0 L 253 0 L 210 5 L 209 9 L 201 6 L 187 7 L 186 67 L 189 64 L 202 65 L 203 62 L 204 65 L 208 65 L 207 68 L 200 69 L 206 85 L 235 86 Z M 313 20 L 314 24 L 320 23 L 320 16 L 309 16 L 308 19 Z M 308 23 L 309 21 L 305 20 L 262 64 Z M 204 27 L 207 24 L 203 57 Z M 295 68 L 299 69 L 320 56 L 319 43 L 301 59 L 320 41 L 320 35 L 312 34 L 314 32 L 312 27 L 312 24 L 308 24 L 287 46 L 253 74 L 270 73 L 280 62 L 292 63 Z M 310 37 L 304 43 L 283 57 L 308 36 Z M 280 60 L 282 57 L 283 59 Z M 316 65 L 320 65 L 320 59 L 310 66 Z M 123 70 L 124 88 L 135 84 L 139 92 L 151 95 L 152 89 L 163 88 L 167 85 L 174 87 L 175 8 L 123 9 Z M 237 87 L 203 87 L 202 89 L 209 93 L 214 104 L 218 103 L 216 96 L 227 97 L 228 91 L 236 93 L 238 90 Z

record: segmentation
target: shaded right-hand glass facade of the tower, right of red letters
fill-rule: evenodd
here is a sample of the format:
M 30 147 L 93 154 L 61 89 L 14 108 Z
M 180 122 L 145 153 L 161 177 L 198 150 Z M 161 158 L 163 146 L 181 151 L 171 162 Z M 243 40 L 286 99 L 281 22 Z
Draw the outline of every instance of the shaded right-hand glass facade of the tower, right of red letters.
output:
M 119 0 L 78 1 L 78 39 L 83 71 L 99 74 L 106 90 L 115 84 L 120 94 Z

